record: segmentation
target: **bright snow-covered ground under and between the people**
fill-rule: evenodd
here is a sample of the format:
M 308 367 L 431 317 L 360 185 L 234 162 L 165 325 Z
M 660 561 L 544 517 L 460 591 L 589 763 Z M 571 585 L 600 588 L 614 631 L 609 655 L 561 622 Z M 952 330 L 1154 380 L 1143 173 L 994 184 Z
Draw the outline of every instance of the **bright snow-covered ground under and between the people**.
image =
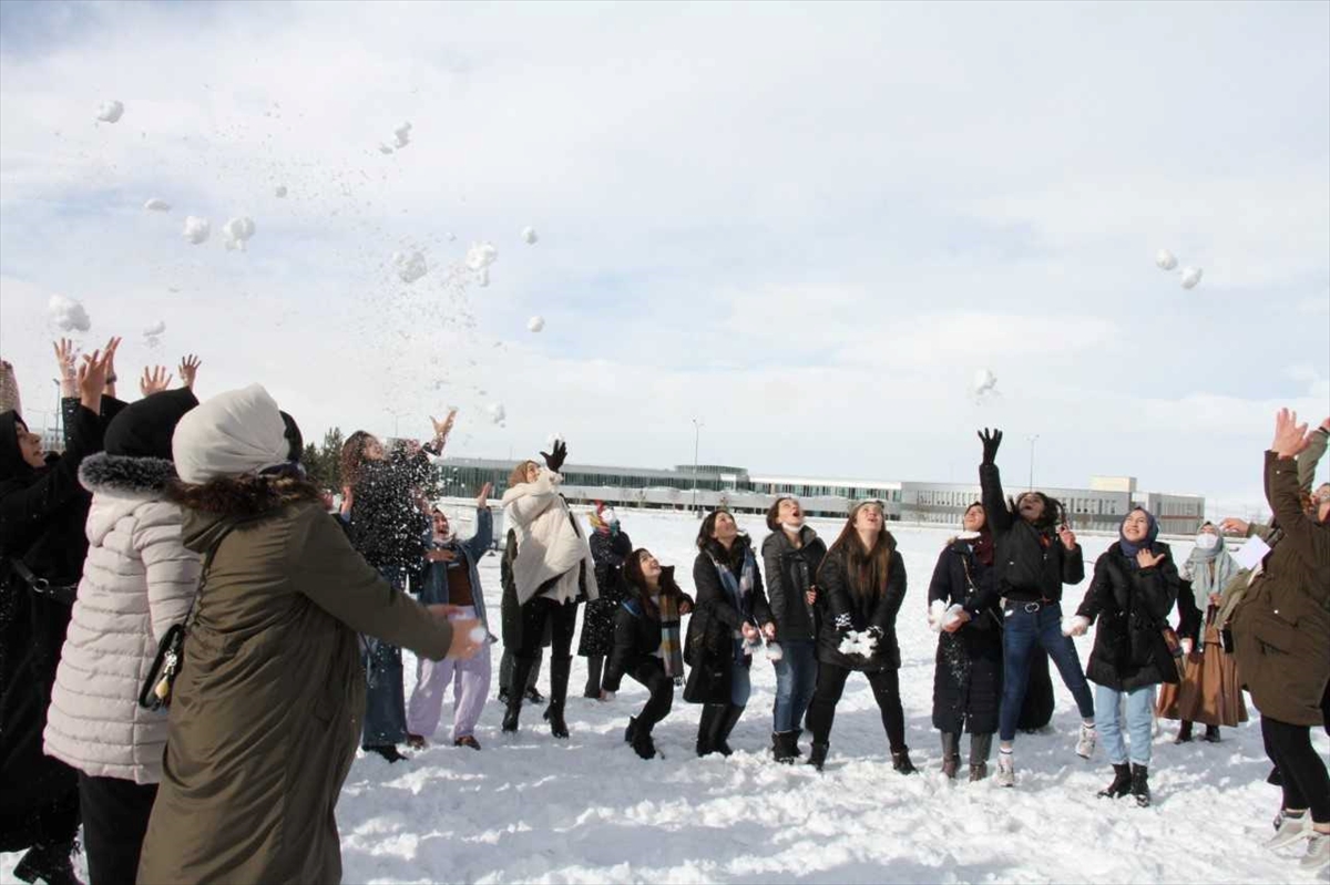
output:
M 636 545 L 680 566 L 680 583 L 692 590 L 697 521 L 629 510 L 620 517 Z M 766 534 L 758 517 L 739 524 L 758 541 Z M 829 543 L 841 528 L 814 525 Z M 1299 874 L 1301 849 L 1277 854 L 1261 846 L 1279 792 L 1265 784 L 1269 763 L 1254 710 L 1253 722 L 1225 730 L 1217 745 L 1173 745 L 1173 723 L 1164 723 L 1150 772 L 1154 805 L 1141 809 L 1096 799 L 1108 763 L 1103 751 L 1091 761 L 1073 753 L 1077 715 L 1055 676 L 1055 731 L 1017 739 L 1016 789 L 991 777 L 946 781 L 930 722 L 936 634 L 924 594 L 950 533 L 895 534 L 910 573 L 900 686 L 922 775 L 891 769 L 876 706 L 859 676 L 837 711 L 826 772 L 773 763 L 766 747 L 775 678 L 765 660 L 753 666 L 753 699 L 732 738 L 733 757 L 693 755 L 698 708 L 676 699 L 656 730 L 664 757 L 642 761 L 622 730 L 645 691 L 625 679 L 612 703 L 583 699 L 579 658 L 571 740 L 553 740 L 540 708 L 529 706 L 520 734 L 503 738 L 501 708 L 491 702 L 476 735 L 481 752 L 451 745 L 446 710 L 438 743 L 410 761 L 358 759 L 338 807 L 344 881 L 1315 881 Z M 1083 538 L 1088 565 L 1111 541 Z M 1182 558 L 1188 546 L 1174 553 Z M 481 581 L 497 618 L 497 557 L 484 559 Z M 1068 590 L 1064 607 L 1080 601 L 1084 586 Z M 1083 660 L 1091 642 L 1077 642 Z M 496 678 L 500 651 L 492 648 Z M 408 691 L 414 676 L 408 658 Z M 543 672 L 543 691 L 545 684 Z M 1319 730 L 1315 741 L 1330 752 Z M 0 856 L 0 880 L 13 881 L 16 860 Z

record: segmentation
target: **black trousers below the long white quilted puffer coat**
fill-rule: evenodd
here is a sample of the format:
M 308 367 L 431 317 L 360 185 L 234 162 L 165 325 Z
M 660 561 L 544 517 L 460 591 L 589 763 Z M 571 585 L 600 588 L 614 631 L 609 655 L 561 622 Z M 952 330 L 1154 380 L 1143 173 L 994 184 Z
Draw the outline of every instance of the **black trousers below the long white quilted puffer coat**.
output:
M 126 885 L 138 878 L 138 853 L 148 833 L 157 784 L 78 773 L 84 850 L 92 885 Z

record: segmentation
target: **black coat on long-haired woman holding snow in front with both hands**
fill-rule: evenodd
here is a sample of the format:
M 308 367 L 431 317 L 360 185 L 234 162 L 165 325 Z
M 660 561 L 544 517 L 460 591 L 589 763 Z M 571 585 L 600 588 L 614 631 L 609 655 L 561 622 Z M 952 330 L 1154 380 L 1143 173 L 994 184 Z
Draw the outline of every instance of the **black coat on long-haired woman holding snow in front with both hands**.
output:
M 872 672 L 876 670 L 900 667 L 900 643 L 896 642 L 896 614 L 906 598 L 906 562 L 896 550 L 896 540 L 887 533 L 891 545 L 891 563 L 887 566 L 887 586 L 880 593 L 870 594 L 855 586 L 857 578 L 850 574 L 846 547 L 831 550 L 822 561 L 818 573 L 818 590 L 826 610 L 822 629 L 818 631 L 818 660 L 822 663 Z M 875 630 L 879 633 L 876 648 L 871 658 L 846 655 L 841 642 L 851 630 Z

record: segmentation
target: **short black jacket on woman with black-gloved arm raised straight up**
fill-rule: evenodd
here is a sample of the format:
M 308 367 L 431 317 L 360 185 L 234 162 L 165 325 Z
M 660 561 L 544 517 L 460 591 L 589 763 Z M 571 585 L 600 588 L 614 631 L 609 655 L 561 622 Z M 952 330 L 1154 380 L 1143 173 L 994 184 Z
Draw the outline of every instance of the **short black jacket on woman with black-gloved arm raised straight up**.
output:
M 1085 579 L 1085 559 L 1077 543 L 1068 550 L 1052 530 L 1040 530 L 1007 509 L 996 464 L 979 465 L 984 518 L 998 547 L 999 595 L 1013 602 L 1060 602 L 1064 583 Z

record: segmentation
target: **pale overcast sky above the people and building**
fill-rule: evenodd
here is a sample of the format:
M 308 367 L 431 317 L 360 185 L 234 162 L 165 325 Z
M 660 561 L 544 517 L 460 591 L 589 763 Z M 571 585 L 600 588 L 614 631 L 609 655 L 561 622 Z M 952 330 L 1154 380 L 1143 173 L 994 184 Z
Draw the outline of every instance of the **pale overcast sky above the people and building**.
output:
M 487 287 L 450 271 L 479 241 Z M 666 466 L 696 417 L 704 462 L 972 481 L 996 424 L 1013 484 L 1037 435 L 1036 484 L 1257 505 L 1274 409 L 1330 413 L 1330 4 L 7 1 L 36 424 L 52 294 L 121 375 L 198 352 L 307 437 L 456 404 L 456 454 Z

